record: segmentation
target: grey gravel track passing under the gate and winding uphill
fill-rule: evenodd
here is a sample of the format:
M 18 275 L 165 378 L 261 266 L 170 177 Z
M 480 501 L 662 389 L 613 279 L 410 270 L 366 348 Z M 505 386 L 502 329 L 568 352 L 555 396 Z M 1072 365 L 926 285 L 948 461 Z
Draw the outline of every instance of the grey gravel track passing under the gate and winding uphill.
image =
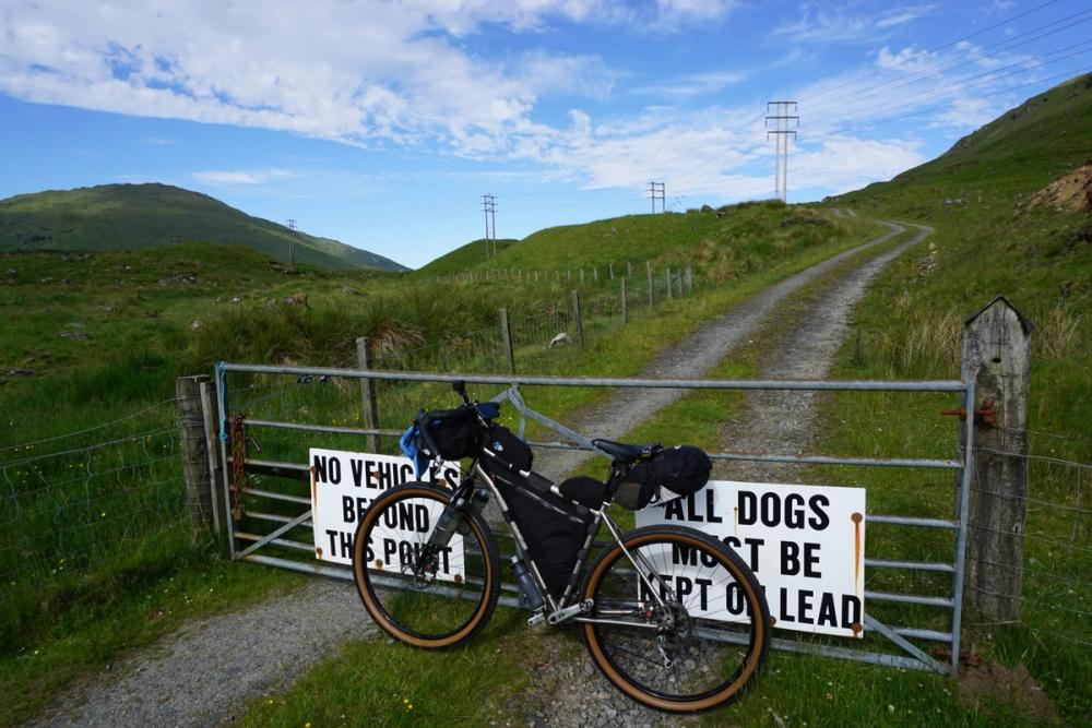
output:
M 698 378 L 709 372 L 737 344 L 746 341 L 747 335 L 786 296 L 851 255 L 882 244 L 905 230 L 893 223 L 883 225 L 890 228 L 889 231 L 875 240 L 834 255 L 733 307 L 687 341 L 658 356 L 641 375 L 676 379 Z M 814 356 L 828 360 L 821 370 L 816 370 L 818 373 L 771 369 L 763 374 L 821 375 L 841 341 L 836 336 L 843 336 L 845 331 L 846 313 L 836 313 L 834 309 L 842 307 L 848 311 L 863 295 L 871 276 L 886 262 L 927 235 L 927 228 L 915 227 L 919 228 L 919 234 L 914 240 L 865 263 L 854 274 L 832 286 L 826 315 L 833 317 L 831 320 L 840 326 L 841 333 L 831 333 L 824 339 L 826 344 L 815 350 Z M 862 276 L 862 268 L 871 273 Z M 823 324 L 823 330 L 827 327 L 828 324 Z M 780 361 L 780 358 L 773 360 Z M 631 393 L 622 392 L 589 408 L 570 422 L 577 430 L 594 437 L 622 438 L 633 423 L 654 417 L 682 394 L 680 390 L 649 390 L 640 397 L 633 397 Z M 780 405 L 757 405 L 756 425 L 743 428 L 736 443 L 755 443 L 755 450 L 763 450 L 768 443 L 776 441 L 779 446 L 774 450 L 784 452 L 786 439 L 774 438 L 774 433 L 762 430 L 757 423 L 760 419 L 784 421 L 780 416 L 771 419 L 763 414 L 763 407 L 776 408 Z M 799 439 L 799 446 L 804 446 L 812 427 L 814 415 L 809 417 L 799 418 L 799 435 L 793 435 Z M 752 439 L 746 440 L 745 435 Z M 582 452 L 547 452 L 536 462 L 536 469 L 556 476 L 572 470 L 590 456 L 590 453 Z M 248 701 L 287 688 L 313 663 L 330 655 L 346 641 L 376 634 L 376 628 L 360 608 L 352 584 L 314 580 L 297 593 L 236 613 L 187 624 L 154 647 L 122 660 L 95 679 L 73 685 L 33 725 L 223 725 L 233 721 Z M 536 712 L 536 704 L 548 707 Z M 517 714 L 522 713 L 523 718 L 535 726 L 650 726 L 687 725 L 692 721 L 637 706 L 598 677 L 584 654 L 571 660 L 551 663 L 537 673 L 531 690 L 520 697 L 519 705 L 513 705 L 512 709 Z

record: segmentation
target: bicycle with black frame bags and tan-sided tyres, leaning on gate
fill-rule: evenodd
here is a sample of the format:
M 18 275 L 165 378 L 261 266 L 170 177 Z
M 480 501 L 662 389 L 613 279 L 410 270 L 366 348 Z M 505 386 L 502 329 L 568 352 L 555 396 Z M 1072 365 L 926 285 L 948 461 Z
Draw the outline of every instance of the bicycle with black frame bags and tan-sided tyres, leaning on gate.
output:
M 649 472 L 670 451 L 593 440 L 613 458 L 607 482 L 571 478 L 558 486 L 531 469 L 525 442 L 494 422 L 499 404 L 472 402 L 462 383 L 454 389 L 463 405 L 422 413 L 402 444 L 418 475 L 468 457 L 465 477 L 450 488 L 392 488 L 359 521 L 353 572 L 372 619 L 416 647 L 448 648 L 474 636 L 500 594 L 500 553 L 482 514 L 494 500 L 515 545 L 512 573 L 532 612 L 529 624 L 579 624 L 607 680 L 660 711 L 699 713 L 743 694 L 767 658 L 771 630 L 748 565 L 693 528 L 622 533 L 607 514 L 614 502 L 648 505 L 660 490 Z M 675 492 L 704 486 L 702 457 L 704 477 L 693 481 L 700 485 L 676 478 Z M 604 526 L 609 538 L 587 565 Z

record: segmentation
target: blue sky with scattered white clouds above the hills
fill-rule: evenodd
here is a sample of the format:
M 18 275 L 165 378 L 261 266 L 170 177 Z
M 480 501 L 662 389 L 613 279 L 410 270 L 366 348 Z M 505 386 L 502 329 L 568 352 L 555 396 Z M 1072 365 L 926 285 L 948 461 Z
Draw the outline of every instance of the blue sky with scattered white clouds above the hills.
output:
M 916 166 L 1092 70 L 1088 0 L 0 0 L 0 198 L 159 181 L 410 266 Z

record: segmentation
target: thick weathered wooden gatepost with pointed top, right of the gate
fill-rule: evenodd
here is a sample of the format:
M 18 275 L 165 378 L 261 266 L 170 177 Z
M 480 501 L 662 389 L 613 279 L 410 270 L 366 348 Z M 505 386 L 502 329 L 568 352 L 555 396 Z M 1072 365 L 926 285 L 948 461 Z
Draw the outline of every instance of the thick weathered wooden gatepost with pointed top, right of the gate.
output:
M 962 375 L 975 382 L 977 398 L 968 408 L 986 410 L 974 427 L 966 589 L 972 611 L 986 622 L 1020 619 L 1033 330 L 1004 296 L 963 327 Z

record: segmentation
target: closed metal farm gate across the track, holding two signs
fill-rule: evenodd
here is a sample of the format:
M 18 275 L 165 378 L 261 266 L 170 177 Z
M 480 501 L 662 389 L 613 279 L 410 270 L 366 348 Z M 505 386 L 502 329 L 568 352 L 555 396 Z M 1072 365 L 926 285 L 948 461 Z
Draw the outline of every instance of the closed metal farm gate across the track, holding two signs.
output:
M 244 418 L 233 414 L 229 374 L 253 379 L 262 378 L 271 381 L 275 378 L 295 378 L 296 382 L 349 380 L 360 382 L 403 382 L 403 383 L 437 383 L 464 381 L 467 384 L 495 385 L 499 394 L 497 398 L 508 398 L 521 413 L 520 432 L 527 418 L 537 419 L 541 423 L 551 427 L 565 434 L 570 441 L 582 444 L 563 444 L 558 442 L 532 441 L 535 447 L 569 447 L 591 450 L 581 435 L 567 431 L 546 418 L 537 416 L 527 408 L 519 396 L 518 387 L 551 386 L 551 387 L 619 387 L 619 389 L 673 389 L 673 390 L 780 390 L 780 391 L 820 391 L 820 392 L 898 392 L 898 393 L 951 393 L 960 395 L 963 411 L 973 411 L 975 402 L 975 382 L 961 381 L 921 381 L 921 382 L 887 382 L 887 381 L 747 381 L 747 380 L 649 380 L 649 379 L 594 379 L 594 378 L 556 378 L 556 377 L 515 377 L 515 375 L 453 375 L 432 374 L 404 371 L 355 370 L 311 367 L 280 367 L 245 363 L 221 362 L 216 366 L 216 415 L 218 421 L 218 457 L 213 468 L 222 470 L 219 478 L 222 490 L 217 493 L 219 514 L 224 518 L 228 548 L 233 559 L 263 563 L 272 566 L 290 569 L 313 574 L 322 574 L 337 578 L 352 580 L 352 571 L 347 568 L 320 563 L 314 560 L 316 544 L 311 538 L 311 493 L 308 492 L 308 481 L 311 473 L 305 462 L 287 462 L 277 460 L 272 453 L 249 452 L 248 445 L 254 440 L 257 432 L 271 430 L 295 433 L 296 435 L 359 435 L 367 438 L 371 450 L 376 450 L 377 438 L 397 438 L 401 430 L 384 430 L 378 427 L 357 427 L 353 423 L 334 421 L 329 425 L 299 423 L 285 419 Z M 372 399 L 373 402 L 373 399 Z M 211 404 L 211 403 L 209 403 Z M 367 395 L 365 397 L 367 408 Z M 300 407 L 302 411 L 306 407 Z M 408 421 L 413 411 L 406 411 L 404 419 Z M 211 417 L 209 418 L 211 419 Z M 897 559 L 864 560 L 866 574 L 883 570 L 898 570 L 913 574 L 927 574 L 931 578 L 950 578 L 950 587 L 945 596 L 936 594 L 915 594 L 912 589 L 902 592 L 865 590 L 865 600 L 870 605 L 902 605 L 911 616 L 909 621 L 921 618 L 917 625 L 889 624 L 876 617 L 865 613 L 864 628 L 866 633 L 881 635 L 885 641 L 862 640 L 859 648 L 833 644 L 830 639 L 775 639 L 775 648 L 810 653 L 844 659 L 860 660 L 878 665 L 902 667 L 954 675 L 960 654 L 960 623 L 962 617 L 962 595 L 965 574 L 965 553 L 968 540 L 968 513 L 971 493 L 971 473 L 973 467 L 974 422 L 966 417 L 960 427 L 961 443 L 952 443 L 953 454 L 947 460 L 926 458 L 877 458 L 877 457 L 830 457 L 830 456 L 795 456 L 782 455 L 743 455 L 733 453 L 711 453 L 714 460 L 757 461 L 769 463 L 790 463 L 795 465 L 840 465 L 851 467 L 885 467 L 885 468 L 924 468 L 927 470 L 951 470 L 956 474 L 954 499 L 951 502 L 950 517 L 926 517 L 911 515 L 891 515 L 868 513 L 867 524 L 883 524 L 885 528 L 911 528 L 930 532 L 935 537 L 950 538 L 950 559 L 923 561 Z M 373 420 L 372 420 L 373 421 Z M 276 482 L 283 487 L 257 488 L 248 482 L 248 476 L 261 474 L 276 476 Z M 259 533 L 259 530 L 261 533 Z M 300 535 L 305 534 L 305 535 Z M 503 542 L 503 541 L 501 541 Z M 271 552 L 273 551 L 273 552 Z M 299 554 L 300 558 L 293 558 Z M 519 592 L 514 585 L 505 584 L 501 593 L 501 604 L 520 606 Z M 894 608 L 894 607 L 890 607 Z M 946 617 L 942 619 L 946 629 L 934 629 L 939 623 L 937 610 Z M 926 617 L 922 618 L 922 614 Z M 900 616 L 901 618 L 901 616 Z M 931 620 L 931 626 L 928 622 Z M 925 623 L 923 623 L 925 622 Z M 914 642 L 912 642 L 914 641 Z M 915 642 L 939 643 L 930 655 Z M 867 644 L 865 644 L 867 643 Z M 874 644 L 875 643 L 875 644 Z M 892 645 L 897 649 L 892 648 Z M 882 652 L 875 646 L 887 646 L 889 652 Z M 938 659 L 939 658 L 939 659 Z

